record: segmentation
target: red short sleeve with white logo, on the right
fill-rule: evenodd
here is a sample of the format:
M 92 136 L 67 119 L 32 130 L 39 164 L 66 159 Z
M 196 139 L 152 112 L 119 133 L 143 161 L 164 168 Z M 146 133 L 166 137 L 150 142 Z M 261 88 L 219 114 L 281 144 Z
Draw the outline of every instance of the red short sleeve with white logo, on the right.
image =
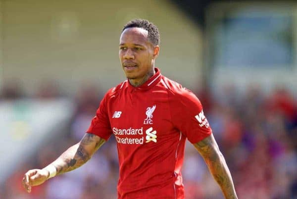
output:
M 212 133 L 200 100 L 190 90 L 181 88 L 177 93 L 172 93 L 170 101 L 173 125 L 192 144 L 198 143 Z

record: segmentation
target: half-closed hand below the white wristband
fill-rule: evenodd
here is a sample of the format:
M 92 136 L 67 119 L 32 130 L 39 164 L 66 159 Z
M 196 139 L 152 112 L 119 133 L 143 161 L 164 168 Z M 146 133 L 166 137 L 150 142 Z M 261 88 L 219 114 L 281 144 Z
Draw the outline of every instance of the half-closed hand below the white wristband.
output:
M 22 184 L 24 189 L 30 193 L 32 186 L 44 183 L 49 178 L 49 171 L 46 169 L 32 169 L 25 173 Z

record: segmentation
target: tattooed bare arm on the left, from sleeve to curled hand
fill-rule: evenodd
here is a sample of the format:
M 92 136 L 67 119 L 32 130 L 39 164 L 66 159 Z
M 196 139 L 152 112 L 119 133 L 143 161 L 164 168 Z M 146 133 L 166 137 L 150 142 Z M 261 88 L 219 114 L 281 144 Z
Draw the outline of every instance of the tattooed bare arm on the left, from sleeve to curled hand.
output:
M 72 171 L 86 163 L 98 150 L 105 140 L 94 134 L 86 133 L 82 140 L 63 152 L 50 165 L 56 170 L 56 175 Z M 44 183 L 49 178 L 47 169 L 31 169 L 22 180 L 23 187 L 30 193 L 31 186 Z

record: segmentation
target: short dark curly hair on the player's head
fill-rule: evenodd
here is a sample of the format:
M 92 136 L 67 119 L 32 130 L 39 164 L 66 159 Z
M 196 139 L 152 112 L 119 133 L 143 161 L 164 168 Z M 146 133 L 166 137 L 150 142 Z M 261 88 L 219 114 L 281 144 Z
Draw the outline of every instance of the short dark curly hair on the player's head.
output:
M 143 28 L 148 31 L 148 40 L 157 46 L 160 44 L 160 34 L 158 28 L 146 19 L 133 19 L 129 21 L 123 28 L 122 32 L 127 28 Z

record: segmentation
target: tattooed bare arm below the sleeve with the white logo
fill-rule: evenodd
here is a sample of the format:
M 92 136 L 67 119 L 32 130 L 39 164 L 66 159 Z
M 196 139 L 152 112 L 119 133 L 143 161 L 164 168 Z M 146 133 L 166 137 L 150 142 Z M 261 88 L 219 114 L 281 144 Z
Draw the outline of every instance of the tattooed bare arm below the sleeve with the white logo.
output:
M 194 144 L 194 147 L 203 157 L 211 175 L 221 187 L 225 198 L 238 199 L 231 173 L 213 135 L 211 134 L 202 141 Z

